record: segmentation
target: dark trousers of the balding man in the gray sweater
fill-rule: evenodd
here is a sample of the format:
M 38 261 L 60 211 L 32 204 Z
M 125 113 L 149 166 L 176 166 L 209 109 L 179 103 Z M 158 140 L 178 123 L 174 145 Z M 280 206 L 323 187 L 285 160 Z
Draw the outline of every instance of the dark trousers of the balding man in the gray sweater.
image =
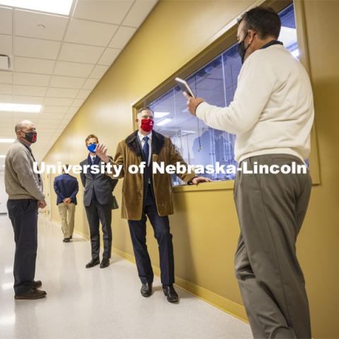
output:
M 10 199 L 7 201 L 16 242 L 14 256 L 14 292 L 27 292 L 33 286 L 37 258 L 37 201 L 35 199 Z

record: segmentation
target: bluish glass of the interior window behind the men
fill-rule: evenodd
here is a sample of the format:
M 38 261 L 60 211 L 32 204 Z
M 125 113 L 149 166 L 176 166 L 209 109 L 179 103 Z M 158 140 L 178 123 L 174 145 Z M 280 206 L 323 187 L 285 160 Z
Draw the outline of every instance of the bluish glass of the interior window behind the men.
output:
M 297 32 L 293 4 L 280 12 L 282 28 L 279 40 L 297 58 Z M 196 96 L 203 97 L 212 105 L 225 107 L 233 100 L 242 61 L 237 53 L 237 44 L 198 69 L 186 81 Z M 189 114 L 186 99 L 179 86 L 150 103 L 155 112 L 155 130 L 171 138 L 175 147 L 190 165 L 235 165 L 234 134 L 206 126 L 203 121 Z M 204 174 L 213 180 L 234 179 L 234 174 Z M 172 176 L 173 184 L 183 184 Z

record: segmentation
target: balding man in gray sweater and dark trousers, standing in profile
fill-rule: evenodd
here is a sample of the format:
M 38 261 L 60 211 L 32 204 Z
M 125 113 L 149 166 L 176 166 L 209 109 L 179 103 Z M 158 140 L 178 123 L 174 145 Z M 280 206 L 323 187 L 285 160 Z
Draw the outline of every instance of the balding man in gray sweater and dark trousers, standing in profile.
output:
M 31 121 L 16 124 L 16 141 L 11 145 L 5 161 L 5 186 L 8 194 L 8 215 L 11 219 L 16 254 L 14 257 L 15 299 L 40 299 L 46 292 L 38 290 L 41 281 L 35 281 L 37 258 L 37 209 L 44 208 L 42 179 L 33 171 L 30 145 L 37 141 L 37 132 Z

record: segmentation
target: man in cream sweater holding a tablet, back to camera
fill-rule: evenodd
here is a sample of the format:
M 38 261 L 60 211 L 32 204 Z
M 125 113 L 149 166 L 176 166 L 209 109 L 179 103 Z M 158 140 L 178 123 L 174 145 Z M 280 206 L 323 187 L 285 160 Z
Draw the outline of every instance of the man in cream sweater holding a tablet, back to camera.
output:
M 237 134 L 234 201 L 241 234 L 235 272 L 255 338 L 311 338 L 309 304 L 295 242 L 307 211 L 306 174 L 246 174 L 260 165 L 292 166 L 309 157 L 314 119 L 309 76 L 278 42 L 280 18 L 256 7 L 239 19 L 243 66 L 234 100 L 215 107 L 188 99 L 189 112 Z

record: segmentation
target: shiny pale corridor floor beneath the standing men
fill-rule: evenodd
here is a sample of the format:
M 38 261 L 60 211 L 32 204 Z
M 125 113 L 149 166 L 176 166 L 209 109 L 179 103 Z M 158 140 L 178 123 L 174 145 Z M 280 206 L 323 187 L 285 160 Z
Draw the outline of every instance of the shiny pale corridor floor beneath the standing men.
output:
M 221 339 L 251 338 L 249 326 L 177 288 L 169 304 L 155 278 L 152 297 L 140 295 L 136 266 L 113 256 L 109 268 L 85 269 L 90 243 L 39 218 L 36 279 L 47 298 L 13 299 L 13 230 L 0 215 L 0 338 Z

